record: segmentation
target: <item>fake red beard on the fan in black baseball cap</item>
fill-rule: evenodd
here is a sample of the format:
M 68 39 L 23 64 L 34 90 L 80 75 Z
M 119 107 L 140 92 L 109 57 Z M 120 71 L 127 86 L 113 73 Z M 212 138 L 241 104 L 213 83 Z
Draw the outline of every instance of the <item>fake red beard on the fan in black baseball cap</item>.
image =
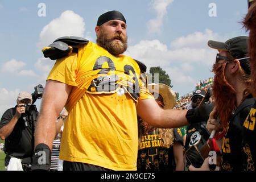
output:
M 213 72 L 215 73 L 213 81 L 214 105 L 220 118 L 221 126 L 226 128 L 232 111 L 236 107 L 236 90 L 226 81 L 224 70 L 226 63 L 214 64 Z

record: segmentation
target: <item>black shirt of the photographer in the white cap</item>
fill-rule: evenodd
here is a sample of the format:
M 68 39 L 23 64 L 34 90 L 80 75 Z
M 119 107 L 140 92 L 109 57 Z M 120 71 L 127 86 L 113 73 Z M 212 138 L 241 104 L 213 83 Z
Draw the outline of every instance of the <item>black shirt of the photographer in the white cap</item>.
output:
M 11 121 L 16 112 L 16 106 L 3 113 L 0 128 Z M 36 111 L 36 115 L 38 112 Z M 22 114 L 14 126 L 11 134 L 5 139 L 5 154 L 23 159 L 31 157 L 34 153 L 34 125 L 27 114 Z

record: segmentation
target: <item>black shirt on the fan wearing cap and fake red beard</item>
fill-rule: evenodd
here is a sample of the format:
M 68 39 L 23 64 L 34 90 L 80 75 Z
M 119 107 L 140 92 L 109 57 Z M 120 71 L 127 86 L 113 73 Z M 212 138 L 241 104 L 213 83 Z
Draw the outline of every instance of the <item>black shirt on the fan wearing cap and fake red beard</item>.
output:
M 232 113 L 229 127 L 225 137 L 222 139 L 221 170 L 222 171 L 242 171 L 242 127 L 251 107 L 254 98 L 247 97 Z

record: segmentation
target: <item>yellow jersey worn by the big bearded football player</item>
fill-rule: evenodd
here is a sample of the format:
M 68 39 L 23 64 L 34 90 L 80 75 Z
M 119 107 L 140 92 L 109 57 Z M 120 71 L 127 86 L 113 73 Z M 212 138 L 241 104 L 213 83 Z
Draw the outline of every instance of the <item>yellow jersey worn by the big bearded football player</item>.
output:
M 68 118 L 60 159 L 113 170 L 137 169 L 136 104 L 154 99 L 139 74 L 131 57 L 115 57 L 92 42 L 56 61 L 47 80 L 73 86 L 65 105 Z

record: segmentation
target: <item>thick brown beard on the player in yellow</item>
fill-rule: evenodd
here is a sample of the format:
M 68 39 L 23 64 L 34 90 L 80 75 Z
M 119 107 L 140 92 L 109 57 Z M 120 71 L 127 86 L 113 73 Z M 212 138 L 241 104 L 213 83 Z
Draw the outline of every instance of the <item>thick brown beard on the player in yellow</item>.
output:
M 120 42 L 115 41 L 115 38 L 117 37 L 120 38 Z M 114 56 L 120 55 L 127 49 L 127 36 L 123 36 L 122 34 L 115 34 L 109 38 L 105 32 L 101 31 L 101 34 L 98 36 L 96 41 L 99 46 L 105 48 Z

